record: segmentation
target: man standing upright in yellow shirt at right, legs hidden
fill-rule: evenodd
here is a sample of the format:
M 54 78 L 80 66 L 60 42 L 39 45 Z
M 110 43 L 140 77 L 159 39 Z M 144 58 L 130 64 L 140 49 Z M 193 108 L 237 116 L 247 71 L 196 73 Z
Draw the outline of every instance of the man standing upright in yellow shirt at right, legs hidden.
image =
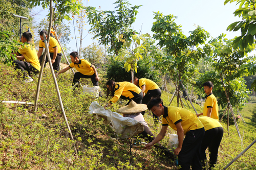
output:
M 218 109 L 217 99 L 215 98 L 215 95 L 212 94 L 212 89 L 214 89 L 214 84 L 208 81 L 208 82 L 205 82 L 203 86 L 204 86 L 204 92 L 206 93 L 204 111 L 203 113 L 197 114 L 197 116 L 198 117 L 201 115 L 208 116 L 219 121 L 219 109 Z

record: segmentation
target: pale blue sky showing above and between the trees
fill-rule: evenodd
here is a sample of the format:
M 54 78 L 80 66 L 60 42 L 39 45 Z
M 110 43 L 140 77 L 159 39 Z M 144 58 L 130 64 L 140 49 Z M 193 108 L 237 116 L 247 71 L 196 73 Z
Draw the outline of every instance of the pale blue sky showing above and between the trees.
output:
M 116 5 L 116 1 L 114 0 L 90 0 L 87 5 L 99 8 L 101 10 L 114 10 Z M 233 23 L 234 21 L 239 21 L 241 18 L 234 17 L 233 12 L 238 9 L 236 3 L 227 4 L 224 6 L 224 1 L 216 0 L 216 1 L 208 1 L 208 0 L 194 0 L 194 1 L 174 1 L 174 0 L 130 0 L 129 1 L 132 6 L 134 5 L 142 5 L 138 9 L 137 19 L 135 23 L 133 23 L 132 27 L 136 31 L 140 31 L 145 34 L 148 33 L 151 36 L 153 33 L 151 32 L 151 28 L 153 22 L 154 12 L 160 11 L 164 15 L 173 14 L 178 18 L 175 22 L 178 25 L 182 26 L 182 31 L 185 35 L 189 35 L 189 31 L 193 31 L 195 29 L 194 24 L 203 27 L 206 31 L 210 33 L 212 37 L 218 37 L 220 34 L 227 34 L 226 38 L 231 39 L 235 36 L 240 36 L 240 30 L 237 32 L 227 32 L 227 27 Z M 86 5 L 86 1 L 83 2 Z M 33 9 L 34 12 L 40 10 L 40 7 Z M 154 12 L 153 12 L 154 11 Z M 35 16 L 35 20 L 37 23 L 48 14 L 48 10 L 44 10 L 40 13 L 40 15 Z M 66 22 L 67 24 L 68 21 Z M 71 26 L 71 25 L 70 25 Z M 90 29 L 88 25 L 86 27 L 86 31 L 84 35 L 87 34 L 87 31 Z M 74 37 L 74 31 L 71 28 L 71 35 Z M 86 47 L 93 42 L 97 42 L 97 40 L 92 40 L 92 35 L 88 35 L 82 41 L 82 47 Z M 76 51 L 75 40 L 71 39 L 71 42 L 67 44 L 67 46 L 71 47 L 71 51 Z

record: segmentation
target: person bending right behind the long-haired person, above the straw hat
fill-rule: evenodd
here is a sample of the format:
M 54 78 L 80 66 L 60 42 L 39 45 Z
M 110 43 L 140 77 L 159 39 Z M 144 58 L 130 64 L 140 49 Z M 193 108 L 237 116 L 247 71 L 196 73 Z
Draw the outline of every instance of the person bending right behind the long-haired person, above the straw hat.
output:
M 132 79 L 131 79 L 132 83 Z M 161 97 L 162 91 L 158 87 L 158 85 L 149 79 L 138 79 L 137 77 L 134 77 L 134 84 L 138 86 L 142 93 L 143 93 L 143 99 L 142 104 L 147 104 L 152 98 Z M 145 111 L 141 112 L 142 115 L 145 114 Z M 153 119 L 155 123 L 159 122 L 159 117 L 153 113 Z

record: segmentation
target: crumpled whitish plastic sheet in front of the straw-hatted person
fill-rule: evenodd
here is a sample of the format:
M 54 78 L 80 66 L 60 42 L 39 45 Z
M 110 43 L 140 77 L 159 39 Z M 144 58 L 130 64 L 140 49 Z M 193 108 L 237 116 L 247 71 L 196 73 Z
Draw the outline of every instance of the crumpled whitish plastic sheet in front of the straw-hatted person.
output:
M 92 102 L 89 107 L 90 114 L 104 118 L 105 124 L 112 124 L 114 131 L 120 135 L 120 138 L 129 138 L 144 131 L 144 126 L 137 120 L 130 117 L 123 117 L 122 115 L 105 110 L 98 102 Z

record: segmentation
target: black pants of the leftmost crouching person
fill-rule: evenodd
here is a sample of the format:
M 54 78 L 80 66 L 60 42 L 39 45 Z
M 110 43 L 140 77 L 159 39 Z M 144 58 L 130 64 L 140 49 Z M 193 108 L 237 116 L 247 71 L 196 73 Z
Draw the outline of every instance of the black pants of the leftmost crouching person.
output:
M 39 70 L 37 70 L 35 67 L 33 67 L 32 64 L 25 62 L 25 61 L 20 61 L 20 60 L 15 60 L 13 61 L 15 69 L 20 69 L 23 71 L 24 77 L 27 76 L 27 72 L 29 74 L 29 76 L 31 76 L 31 74 L 38 74 Z

